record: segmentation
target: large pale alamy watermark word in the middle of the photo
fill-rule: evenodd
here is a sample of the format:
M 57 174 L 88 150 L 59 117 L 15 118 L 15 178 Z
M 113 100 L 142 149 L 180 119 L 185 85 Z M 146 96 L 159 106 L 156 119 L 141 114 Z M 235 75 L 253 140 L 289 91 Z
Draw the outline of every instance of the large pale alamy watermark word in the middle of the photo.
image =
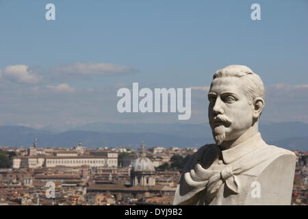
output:
M 139 90 L 139 83 L 133 83 L 132 93 L 128 88 L 120 88 L 117 96 L 122 97 L 116 105 L 120 113 L 178 112 L 179 120 L 188 120 L 191 116 L 191 88 L 169 88 L 168 90 L 155 88 L 154 91 L 150 88 L 142 88 Z

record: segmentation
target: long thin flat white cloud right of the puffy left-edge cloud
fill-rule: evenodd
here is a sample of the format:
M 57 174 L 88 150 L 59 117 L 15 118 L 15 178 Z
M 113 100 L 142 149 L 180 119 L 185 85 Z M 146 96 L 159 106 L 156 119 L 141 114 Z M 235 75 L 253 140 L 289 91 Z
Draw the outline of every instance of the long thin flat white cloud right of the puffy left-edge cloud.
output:
M 54 69 L 56 73 L 75 73 L 80 75 L 119 75 L 136 73 L 138 70 L 129 66 L 120 66 L 110 63 L 73 63 Z

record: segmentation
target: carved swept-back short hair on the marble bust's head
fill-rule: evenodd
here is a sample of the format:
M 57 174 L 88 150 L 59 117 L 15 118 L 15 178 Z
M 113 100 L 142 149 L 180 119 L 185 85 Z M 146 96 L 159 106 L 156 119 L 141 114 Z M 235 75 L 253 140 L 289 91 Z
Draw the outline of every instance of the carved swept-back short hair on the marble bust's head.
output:
M 265 100 L 264 84 L 259 75 L 253 73 L 253 70 L 251 70 L 251 68 L 240 65 L 227 66 L 216 71 L 213 76 L 213 80 L 222 77 L 240 77 L 246 80 L 246 83 L 244 83 L 244 87 L 248 96 L 251 97 L 251 99 L 261 97 Z

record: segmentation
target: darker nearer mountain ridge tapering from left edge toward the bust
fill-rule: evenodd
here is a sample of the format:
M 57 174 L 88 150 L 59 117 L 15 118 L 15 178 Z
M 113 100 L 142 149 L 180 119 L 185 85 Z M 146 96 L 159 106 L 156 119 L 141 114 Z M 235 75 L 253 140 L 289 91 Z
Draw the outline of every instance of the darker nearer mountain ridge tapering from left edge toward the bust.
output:
M 199 147 L 207 138 L 189 138 L 166 133 L 107 133 L 99 131 L 64 131 L 52 133 L 29 127 L 0 126 L 1 146 L 31 146 L 38 138 L 38 147 L 63 146 L 71 147 L 82 142 L 84 146 L 97 148 L 103 146 L 140 146 L 144 141 L 148 146 Z

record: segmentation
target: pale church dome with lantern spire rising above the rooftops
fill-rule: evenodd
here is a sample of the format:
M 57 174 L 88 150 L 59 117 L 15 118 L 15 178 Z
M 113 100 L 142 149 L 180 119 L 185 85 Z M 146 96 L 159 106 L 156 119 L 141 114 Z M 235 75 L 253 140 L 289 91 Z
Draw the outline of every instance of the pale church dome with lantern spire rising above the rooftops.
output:
M 154 186 L 155 168 L 151 159 L 146 157 L 144 142 L 142 142 L 141 156 L 131 164 L 131 185 Z

